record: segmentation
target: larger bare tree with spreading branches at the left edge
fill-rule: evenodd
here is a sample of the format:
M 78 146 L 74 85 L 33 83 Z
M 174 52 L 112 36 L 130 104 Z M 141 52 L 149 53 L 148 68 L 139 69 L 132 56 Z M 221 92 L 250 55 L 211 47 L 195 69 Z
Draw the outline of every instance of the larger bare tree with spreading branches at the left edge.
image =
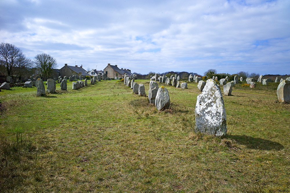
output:
M 21 49 L 10 43 L 0 44 L 0 69 L 3 75 L 13 76 L 17 69 L 26 66 L 27 58 Z

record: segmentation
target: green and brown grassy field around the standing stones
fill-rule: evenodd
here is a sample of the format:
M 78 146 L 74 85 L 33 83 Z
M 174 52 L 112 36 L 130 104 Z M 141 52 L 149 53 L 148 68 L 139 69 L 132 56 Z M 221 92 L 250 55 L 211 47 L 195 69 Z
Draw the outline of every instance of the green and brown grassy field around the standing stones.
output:
M 148 94 L 149 80 L 136 82 Z M 158 83 L 171 100 L 162 112 L 116 80 L 45 97 L 2 90 L 1 191 L 289 192 L 290 104 L 278 83 L 242 83 L 224 96 L 223 139 L 194 133 L 196 83 Z

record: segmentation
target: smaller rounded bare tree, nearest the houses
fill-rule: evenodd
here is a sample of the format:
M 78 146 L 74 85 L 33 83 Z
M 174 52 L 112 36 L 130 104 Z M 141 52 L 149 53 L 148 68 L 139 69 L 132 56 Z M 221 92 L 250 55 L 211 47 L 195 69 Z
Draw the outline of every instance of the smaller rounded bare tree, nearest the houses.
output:
M 57 67 L 57 61 L 46 53 L 37 54 L 34 57 L 34 64 L 44 79 L 49 78 L 52 74 L 52 69 Z

